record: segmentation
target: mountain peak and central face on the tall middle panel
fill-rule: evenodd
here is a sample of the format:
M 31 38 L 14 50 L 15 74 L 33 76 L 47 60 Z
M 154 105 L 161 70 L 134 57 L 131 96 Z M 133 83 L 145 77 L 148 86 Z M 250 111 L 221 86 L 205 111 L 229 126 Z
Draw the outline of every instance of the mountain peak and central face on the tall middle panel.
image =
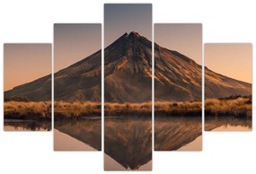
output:
M 136 32 L 125 33 L 105 49 L 105 101 L 151 100 L 152 44 Z

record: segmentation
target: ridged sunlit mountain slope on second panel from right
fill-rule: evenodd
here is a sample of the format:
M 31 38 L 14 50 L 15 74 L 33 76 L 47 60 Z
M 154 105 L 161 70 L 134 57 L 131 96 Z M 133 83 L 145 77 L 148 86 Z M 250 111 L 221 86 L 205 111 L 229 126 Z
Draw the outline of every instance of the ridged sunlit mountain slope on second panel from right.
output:
M 201 66 L 155 44 L 154 89 L 155 100 L 200 100 Z

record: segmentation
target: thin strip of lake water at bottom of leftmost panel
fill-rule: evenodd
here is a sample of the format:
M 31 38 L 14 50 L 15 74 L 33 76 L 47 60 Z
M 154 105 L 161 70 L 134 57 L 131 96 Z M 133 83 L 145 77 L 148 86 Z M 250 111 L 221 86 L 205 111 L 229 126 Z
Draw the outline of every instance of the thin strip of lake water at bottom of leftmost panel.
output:
M 4 119 L 4 131 L 50 131 L 51 121 Z

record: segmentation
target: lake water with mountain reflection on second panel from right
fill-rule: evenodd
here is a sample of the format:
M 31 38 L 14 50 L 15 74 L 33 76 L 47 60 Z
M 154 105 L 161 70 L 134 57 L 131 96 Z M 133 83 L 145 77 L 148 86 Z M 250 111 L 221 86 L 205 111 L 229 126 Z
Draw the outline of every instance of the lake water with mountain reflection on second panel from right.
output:
M 201 117 L 155 117 L 154 151 L 201 151 Z

